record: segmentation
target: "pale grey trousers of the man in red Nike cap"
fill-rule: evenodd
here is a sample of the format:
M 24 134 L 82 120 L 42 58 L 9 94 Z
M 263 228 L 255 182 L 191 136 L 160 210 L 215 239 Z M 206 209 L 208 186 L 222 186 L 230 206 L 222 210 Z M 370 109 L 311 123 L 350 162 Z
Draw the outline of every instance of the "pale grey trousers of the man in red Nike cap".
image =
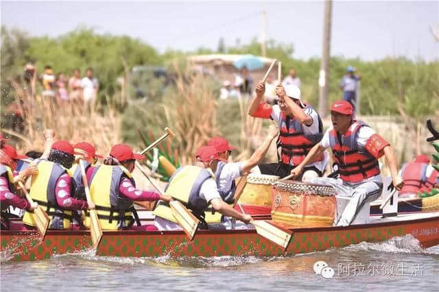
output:
M 332 186 L 335 188 L 337 195 L 351 197 L 340 217 L 334 219 L 334 226 L 351 225 L 364 203 L 375 201 L 383 190 L 381 176 L 379 180 L 376 177 L 372 177 L 359 183 L 343 182 L 340 178 L 315 178 L 310 183 Z

